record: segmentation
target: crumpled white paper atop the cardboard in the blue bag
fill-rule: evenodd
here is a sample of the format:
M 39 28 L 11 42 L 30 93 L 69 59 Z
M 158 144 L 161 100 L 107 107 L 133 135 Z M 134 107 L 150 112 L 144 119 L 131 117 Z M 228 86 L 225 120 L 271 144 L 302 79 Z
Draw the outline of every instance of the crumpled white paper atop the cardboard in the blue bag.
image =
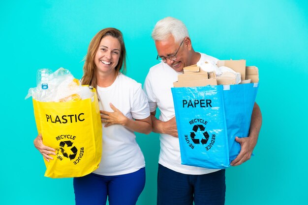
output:
M 239 84 L 241 82 L 241 74 L 235 72 L 229 67 L 217 67 L 216 63 L 212 61 L 197 63 L 197 66 L 200 66 L 200 68 L 206 72 L 215 72 L 217 78 L 232 78 L 235 79 L 235 84 Z

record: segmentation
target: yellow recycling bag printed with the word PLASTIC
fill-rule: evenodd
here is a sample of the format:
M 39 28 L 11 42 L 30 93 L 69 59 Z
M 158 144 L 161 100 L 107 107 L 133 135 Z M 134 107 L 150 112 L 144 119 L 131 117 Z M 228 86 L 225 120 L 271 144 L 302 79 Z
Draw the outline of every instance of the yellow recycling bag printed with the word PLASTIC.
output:
M 38 102 L 34 117 L 43 144 L 56 150 L 44 159 L 45 177 L 82 177 L 98 168 L 102 153 L 102 125 L 96 91 L 89 99 L 71 102 Z

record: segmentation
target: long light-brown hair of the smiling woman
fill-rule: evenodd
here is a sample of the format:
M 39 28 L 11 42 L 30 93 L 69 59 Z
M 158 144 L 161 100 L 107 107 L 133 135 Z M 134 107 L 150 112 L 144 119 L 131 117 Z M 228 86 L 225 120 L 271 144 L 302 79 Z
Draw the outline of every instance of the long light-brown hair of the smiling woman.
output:
M 118 75 L 119 72 L 122 73 L 126 72 L 126 50 L 123 40 L 123 34 L 117 28 L 104 28 L 95 34 L 95 36 L 92 38 L 89 44 L 88 53 L 85 56 L 85 64 L 83 67 L 84 76 L 81 78 L 81 83 L 83 85 L 91 85 L 94 88 L 97 87 L 96 66 L 94 63 L 94 57 L 98 50 L 101 39 L 104 38 L 105 36 L 112 36 L 118 39 L 121 45 L 119 62 L 115 68 L 116 75 Z

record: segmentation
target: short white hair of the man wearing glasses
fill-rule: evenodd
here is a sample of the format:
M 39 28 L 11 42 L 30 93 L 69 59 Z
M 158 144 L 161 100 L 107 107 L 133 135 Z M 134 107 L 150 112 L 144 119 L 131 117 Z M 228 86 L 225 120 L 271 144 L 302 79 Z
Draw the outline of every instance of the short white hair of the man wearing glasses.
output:
M 152 31 L 152 38 L 154 41 L 161 41 L 167 39 L 170 34 L 177 43 L 183 41 L 186 36 L 189 37 L 188 30 L 182 21 L 166 17 L 156 23 Z

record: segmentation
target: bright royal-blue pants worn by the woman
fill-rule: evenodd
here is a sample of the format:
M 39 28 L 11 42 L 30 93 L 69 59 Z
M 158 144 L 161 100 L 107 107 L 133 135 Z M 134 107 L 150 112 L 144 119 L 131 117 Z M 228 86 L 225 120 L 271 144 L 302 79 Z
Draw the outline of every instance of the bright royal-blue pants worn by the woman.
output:
M 89 174 L 74 178 L 76 205 L 135 205 L 146 182 L 145 168 L 117 176 Z

